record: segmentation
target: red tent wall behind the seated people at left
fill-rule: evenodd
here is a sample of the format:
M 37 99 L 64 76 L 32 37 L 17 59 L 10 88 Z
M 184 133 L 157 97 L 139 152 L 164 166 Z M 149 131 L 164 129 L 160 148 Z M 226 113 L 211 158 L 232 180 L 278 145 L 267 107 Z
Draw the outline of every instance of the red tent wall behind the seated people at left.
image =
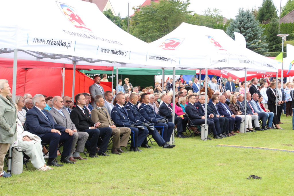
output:
M 12 86 L 13 68 L 0 67 L 1 79 L 7 79 Z M 64 95 L 72 96 L 73 70 L 65 70 Z M 89 92 L 93 79 L 76 70 L 75 94 Z M 111 82 L 101 82 L 104 91 L 111 91 Z M 12 90 L 11 90 L 12 92 Z M 46 96 L 61 96 L 62 94 L 62 69 L 60 68 L 17 68 L 16 95 L 23 96 L 29 93 L 44 94 Z

